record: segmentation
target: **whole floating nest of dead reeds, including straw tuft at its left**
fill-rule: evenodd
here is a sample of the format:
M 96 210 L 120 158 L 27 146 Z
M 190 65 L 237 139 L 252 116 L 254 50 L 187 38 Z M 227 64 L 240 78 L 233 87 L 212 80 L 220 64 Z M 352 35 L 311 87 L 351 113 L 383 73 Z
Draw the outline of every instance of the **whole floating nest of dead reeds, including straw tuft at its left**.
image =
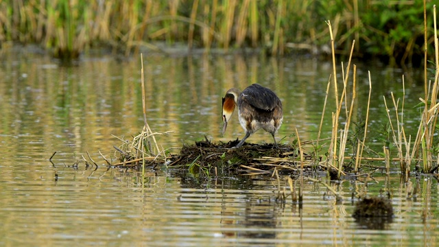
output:
M 167 165 L 174 169 L 202 169 L 206 173 L 217 174 L 220 171 L 233 174 L 271 174 L 277 172 L 294 174 L 303 167 L 307 171 L 326 171 L 326 165 L 320 159 L 309 154 L 300 157 L 298 148 L 291 145 L 244 143 L 240 148 L 235 148 L 239 140 L 227 143 L 214 143 L 208 139 L 197 141 L 193 145 L 183 145 L 179 154 L 148 155 L 139 157 L 141 149 L 136 143 L 124 142 L 119 148 L 119 163 L 116 167 L 140 169 L 142 163 L 145 167 Z M 330 172 L 334 172 L 331 170 Z

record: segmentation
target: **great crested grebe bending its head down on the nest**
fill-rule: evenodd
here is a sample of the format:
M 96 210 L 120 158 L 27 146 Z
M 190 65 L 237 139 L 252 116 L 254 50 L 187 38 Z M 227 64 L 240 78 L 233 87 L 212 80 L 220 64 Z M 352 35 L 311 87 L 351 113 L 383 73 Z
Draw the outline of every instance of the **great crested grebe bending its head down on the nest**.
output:
M 250 134 L 261 128 L 272 134 L 274 146 L 278 148 L 274 133 L 282 125 L 283 113 L 281 99 L 276 93 L 259 84 L 252 84 L 242 92 L 238 89 L 229 89 L 226 96 L 222 98 L 223 135 L 235 106 L 238 106 L 239 124 L 246 131 L 246 136 L 235 148 L 241 147 Z

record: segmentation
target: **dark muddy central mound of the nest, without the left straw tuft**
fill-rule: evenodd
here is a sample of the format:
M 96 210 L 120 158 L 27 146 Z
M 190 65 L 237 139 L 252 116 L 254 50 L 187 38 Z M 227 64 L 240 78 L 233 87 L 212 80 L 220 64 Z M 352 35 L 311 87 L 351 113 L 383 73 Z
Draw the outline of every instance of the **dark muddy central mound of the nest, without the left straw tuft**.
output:
M 276 167 L 288 172 L 298 171 L 300 154 L 291 145 L 244 143 L 234 148 L 239 140 L 228 143 L 213 143 L 208 139 L 195 142 L 195 145 L 183 145 L 180 154 L 171 158 L 170 167 L 197 165 L 204 169 L 224 169 L 237 173 L 268 173 Z M 304 160 L 310 163 L 311 156 L 304 154 Z

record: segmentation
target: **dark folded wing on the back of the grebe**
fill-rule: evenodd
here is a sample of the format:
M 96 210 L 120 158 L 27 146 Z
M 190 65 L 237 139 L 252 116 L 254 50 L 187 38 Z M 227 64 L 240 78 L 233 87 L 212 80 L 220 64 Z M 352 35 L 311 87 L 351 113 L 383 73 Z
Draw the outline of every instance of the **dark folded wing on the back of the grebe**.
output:
M 280 102 L 273 91 L 259 84 L 248 86 L 241 95 L 248 104 L 262 110 L 273 110 Z

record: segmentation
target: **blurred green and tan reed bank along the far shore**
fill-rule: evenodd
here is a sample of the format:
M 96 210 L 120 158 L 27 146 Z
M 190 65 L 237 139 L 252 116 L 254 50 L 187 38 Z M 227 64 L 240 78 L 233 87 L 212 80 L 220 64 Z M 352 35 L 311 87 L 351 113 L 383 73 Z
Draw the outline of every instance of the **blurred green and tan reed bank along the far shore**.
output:
M 433 3 L 424 1 L 427 10 Z M 350 40 L 356 40 L 355 56 L 420 62 L 424 30 L 430 34 L 434 28 L 431 18 L 423 23 L 423 11 L 423 1 L 390 0 L 9 0 L 0 1 L 0 44 L 38 43 L 61 58 L 102 44 L 126 55 L 140 47 L 161 50 L 156 41 L 206 51 L 252 47 L 272 55 L 329 54 L 324 20 L 333 20 L 337 54 L 350 54 Z M 432 43 L 428 38 L 428 47 Z

